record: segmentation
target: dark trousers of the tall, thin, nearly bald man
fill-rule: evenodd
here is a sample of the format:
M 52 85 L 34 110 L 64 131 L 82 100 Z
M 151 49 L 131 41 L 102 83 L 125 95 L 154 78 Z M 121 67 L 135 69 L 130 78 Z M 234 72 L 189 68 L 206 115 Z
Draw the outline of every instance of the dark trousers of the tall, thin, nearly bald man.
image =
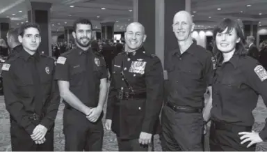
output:
M 203 151 L 202 113 L 175 112 L 164 106 L 161 125 L 163 151 Z

